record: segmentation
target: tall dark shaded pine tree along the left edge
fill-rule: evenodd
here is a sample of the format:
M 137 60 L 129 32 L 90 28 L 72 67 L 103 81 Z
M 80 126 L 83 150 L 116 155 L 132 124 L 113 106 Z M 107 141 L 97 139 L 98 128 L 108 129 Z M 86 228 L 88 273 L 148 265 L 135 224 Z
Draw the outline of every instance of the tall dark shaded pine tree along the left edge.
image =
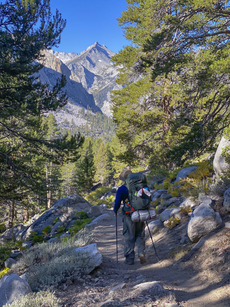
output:
M 64 76 L 52 91 L 37 79 L 43 67 L 41 51 L 59 44 L 66 24 L 58 11 L 52 16 L 49 3 L 6 0 L 0 4 L 0 199 L 10 204 L 9 226 L 17 202 L 28 206 L 33 194 L 37 198 L 43 194 L 42 189 L 39 192 L 44 184 L 43 159 L 55 163 L 65 156 L 76 159 L 82 144 L 80 135 L 68 141 L 66 136 L 48 140 L 41 129 L 43 115 L 67 103 L 61 91 Z

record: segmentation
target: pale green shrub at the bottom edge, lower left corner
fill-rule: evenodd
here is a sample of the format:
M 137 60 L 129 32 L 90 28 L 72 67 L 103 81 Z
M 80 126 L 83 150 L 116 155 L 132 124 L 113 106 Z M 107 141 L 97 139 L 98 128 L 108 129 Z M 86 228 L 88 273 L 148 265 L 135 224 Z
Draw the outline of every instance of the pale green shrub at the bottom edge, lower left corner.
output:
M 12 304 L 4 307 L 59 307 L 60 300 L 50 290 L 29 293 L 16 298 Z

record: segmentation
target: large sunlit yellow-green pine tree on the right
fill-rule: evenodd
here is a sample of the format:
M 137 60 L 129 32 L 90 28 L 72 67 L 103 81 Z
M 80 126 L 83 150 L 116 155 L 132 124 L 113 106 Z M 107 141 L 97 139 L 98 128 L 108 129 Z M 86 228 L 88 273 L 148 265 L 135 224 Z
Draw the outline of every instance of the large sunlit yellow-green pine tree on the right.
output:
M 228 2 L 128 1 L 113 92 L 123 160 L 181 164 L 212 150 L 228 125 Z M 150 158 L 150 159 L 149 159 Z

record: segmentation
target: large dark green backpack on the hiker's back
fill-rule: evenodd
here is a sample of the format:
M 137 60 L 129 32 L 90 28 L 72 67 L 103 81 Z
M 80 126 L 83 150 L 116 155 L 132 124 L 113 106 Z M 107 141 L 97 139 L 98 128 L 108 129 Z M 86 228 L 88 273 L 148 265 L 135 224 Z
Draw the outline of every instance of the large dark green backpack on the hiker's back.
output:
M 150 197 L 144 193 L 142 196 L 136 196 L 136 193 L 141 188 L 148 188 L 145 175 L 142 173 L 132 173 L 127 176 L 126 184 L 128 188 L 128 199 L 131 207 L 135 210 L 146 210 L 150 205 Z

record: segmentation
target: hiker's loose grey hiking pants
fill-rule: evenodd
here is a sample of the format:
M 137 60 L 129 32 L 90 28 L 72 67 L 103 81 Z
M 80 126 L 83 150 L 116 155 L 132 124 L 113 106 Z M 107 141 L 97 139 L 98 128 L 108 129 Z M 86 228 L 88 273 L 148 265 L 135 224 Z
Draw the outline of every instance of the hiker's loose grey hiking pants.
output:
M 123 215 L 123 235 L 125 239 L 124 255 L 126 259 L 134 259 L 135 243 L 137 245 L 138 256 L 140 256 L 140 254 L 144 254 L 144 222 L 134 223 L 131 220 L 131 216 Z

